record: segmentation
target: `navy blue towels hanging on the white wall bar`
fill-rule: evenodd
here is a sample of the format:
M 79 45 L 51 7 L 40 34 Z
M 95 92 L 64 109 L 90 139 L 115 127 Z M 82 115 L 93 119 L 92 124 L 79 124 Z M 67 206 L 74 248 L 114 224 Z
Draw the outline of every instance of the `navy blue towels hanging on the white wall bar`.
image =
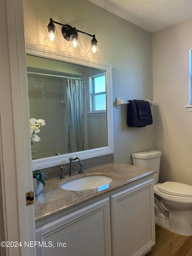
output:
M 137 102 L 138 101 L 138 102 Z M 145 127 L 152 125 L 153 119 L 149 101 L 130 100 L 127 112 L 128 127 Z M 144 119 L 145 117 L 145 119 Z

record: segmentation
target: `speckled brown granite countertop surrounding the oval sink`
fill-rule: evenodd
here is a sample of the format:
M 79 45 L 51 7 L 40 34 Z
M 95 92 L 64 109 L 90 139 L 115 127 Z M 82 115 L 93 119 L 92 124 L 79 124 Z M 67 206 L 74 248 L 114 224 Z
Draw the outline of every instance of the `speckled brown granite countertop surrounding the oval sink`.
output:
M 67 174 L 65 179 L 54 178 L 46 180 L 43 190 L 35 196 L 35 221 L 54 215 L 155 172 L 155 170 L 148 168 L 113 162 L 86 169 L 83 174 L 78 172 L 74 173 L 74 176 Z M 61 188 L 61 185 L 69 180 L 93 174 L 112 177 L 113 181 L 109 183 L 109 188 L 101 191 L 99 191 L 99 188 L 81 191 L 70 191 Z

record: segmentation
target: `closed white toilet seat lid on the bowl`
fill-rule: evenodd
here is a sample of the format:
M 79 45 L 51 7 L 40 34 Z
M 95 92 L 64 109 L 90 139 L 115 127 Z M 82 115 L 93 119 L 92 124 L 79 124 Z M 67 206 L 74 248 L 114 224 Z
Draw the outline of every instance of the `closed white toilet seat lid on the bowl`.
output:
M 159 191 L 166 194 L 179 197 L 192 197 L 192 186 L 187 184 L 167 181 L 158 185 L 157 188 Z

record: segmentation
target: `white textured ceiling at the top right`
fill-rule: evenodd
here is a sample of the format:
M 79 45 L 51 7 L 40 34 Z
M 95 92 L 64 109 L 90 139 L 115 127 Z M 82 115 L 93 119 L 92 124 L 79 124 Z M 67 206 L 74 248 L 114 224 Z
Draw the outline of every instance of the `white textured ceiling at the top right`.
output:
M 191 0 L 88 0 L 151 33 L 192 18 Z

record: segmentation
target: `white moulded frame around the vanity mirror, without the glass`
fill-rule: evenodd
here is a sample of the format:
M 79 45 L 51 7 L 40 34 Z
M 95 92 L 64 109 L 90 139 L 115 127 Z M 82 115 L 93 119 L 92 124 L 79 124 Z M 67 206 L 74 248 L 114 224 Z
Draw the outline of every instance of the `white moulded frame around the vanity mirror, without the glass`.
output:
M 32 170 L 44 169 L 47 167 L 57 166 L 61 164 L 69 163 L 69 157 L 79 156 L 82 160 L 87 158 L 93 158 L 102 155 L 113 154 L 113 101 L 112 101 L 112 66 L 98 60 L 89 59 L 82 56 L 77 56 L 70 53 L 61 52 L 45 47 L 40 47 L 34 44 L 26 43 L 26 54 L 44 57 L 48 59 L 55 59 L 59 61 L 74 63 L 91 68 L 97 68 L 106 71 L 106 97 L 107 97 L 107 140 L 108 146 L 89 149 L 64 155 L 45 157 L 32 160 Z

